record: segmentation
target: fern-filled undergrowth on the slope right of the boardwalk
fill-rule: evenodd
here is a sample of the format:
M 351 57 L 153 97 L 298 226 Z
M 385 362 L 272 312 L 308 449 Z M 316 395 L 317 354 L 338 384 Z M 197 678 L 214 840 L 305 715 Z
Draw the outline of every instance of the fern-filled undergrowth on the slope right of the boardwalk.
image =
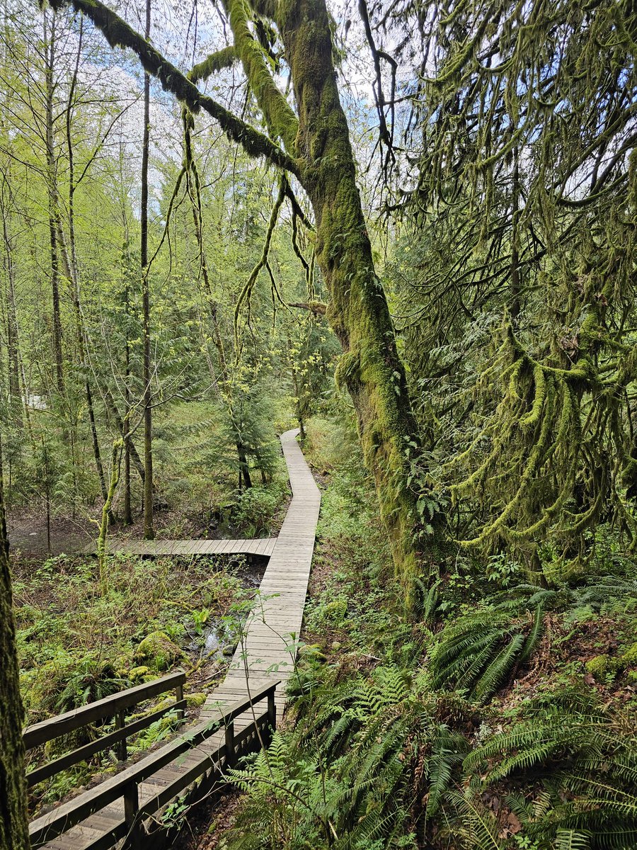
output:
M 506 555 L 444 564 L 403 609 L 352 433 L 330 473 L 290 723 L 234 772 L 223 846 L 637 846 L 637 572 L 612 530 L 578 579 Z M 325 447 L 328 447 L 328 450 Z

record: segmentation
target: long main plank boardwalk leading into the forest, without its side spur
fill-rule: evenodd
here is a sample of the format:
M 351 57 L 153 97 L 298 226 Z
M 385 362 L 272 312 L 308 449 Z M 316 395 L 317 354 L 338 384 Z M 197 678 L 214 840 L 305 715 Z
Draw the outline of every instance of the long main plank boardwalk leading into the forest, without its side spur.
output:
M 198 740 L 195 746 L 189 747 L 185 753 L 181 752 L 178 757 L 155 772 L 145 770 L 144 762 L 148 762 L 150 766 L 153 760 L 162 758 L 162 754 L 166 760 L 171 752 L 175 751 L 174 748 L 179 747 L 179 742 L 184 737 L 189 738 L 196 734 L 197 729 L 206 728 L 206 724 L 211 720 L 220 717 L 234 704 L 245 701 L 246 697 L 252 699 L 256 692 L 273 679 L 282 680 L 274 695 L 277 721 L 283 713 L 285 683 L 293 672 L 295 640 L 301 632 L 320 507 L 320 492 L 296 443 L 297 433 L 296 430 L 288 431 L 280 438 L 290 475 L 292 501 L 279 537 L 274 541 L 268 568 L 262 579 L 260 595 L 245 626 L 245 638 L 234 653 L 225 681 L 208 696 L 196 725 L 185 728 L 176 740 L 145 757 L 141 762 L 126 768 L 131 776 L 144 776 L 144 780 L 138 782 L 139 806 L 142 809 L 160 794 L 164 795 L 162 800 L 166 798 L 165 802 L 178 796 L 179 791 L 183 792 L 192 785 L 192 779 L 189 777 L 197 774 L 198 770 L 201 771 L 201 765 L 211 771 L 214 764 L 219 762 L 219 753 L 223 751 L 224 740 L 227 741 L 227 738 L 222 730 L 206 740 Z M 254 724 L 259 713 L 251 709 L 236 717 L 234 734 L 251 735 L 254 745 L 258 745 Z M 263 717 L 259 723 L 265 728 Z M 105 782 L 115 782 L 117 776 L 121 777 L 121 774 Z M 69 812 L 72 811 L 78 801 L 92 793 L 99 793 L 99 788 L 103 786 L 104 783 L 97 785 L 55 808 L 53 812 L 32 821 L 31 835 L 43 836 L 34 842 L 34 846 L 48 847 L 49 850 L 104 850 L 114 846 L 117 838 L 122 835 L 124 825 L 124 803 L 121 799 L 99 808 L 99 811 L 93 808 L 93 813 L 82 821 L 82 824 L 46 843 L 46 830 L 52 819 L 64 816 L 65 808 Z M 172 793 L 174 789 L 177 791 Z

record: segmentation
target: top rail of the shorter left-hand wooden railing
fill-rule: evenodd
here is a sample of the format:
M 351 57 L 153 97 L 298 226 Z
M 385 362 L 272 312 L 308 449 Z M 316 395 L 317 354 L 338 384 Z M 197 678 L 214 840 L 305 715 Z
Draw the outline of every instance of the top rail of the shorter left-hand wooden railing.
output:
M 32 726 L 27 726 L 22 734 L 25 749 L 32 750 L 37 745 L 46 744 L 48 741 L 58 738 L 59 735 L 68 734 L 74 729 L 87 726 L 96 720 L 103 720 L 104 717 L 114 717 L 119 711 L 137 706 L 139 702 L 150 700 L 152 697 L 164 694 L 172 689 L 178 691 L 178 700 L 183 700 L 183 684 L 185 681 L 186 674 L 184 672 L 171 673 L 169 676 L 155 679 L 154 682 L 147 682 L 125 691 L 118 691 L 117 694 L 104 697 L 104 700 L 89 702 L 87 706 L 65 711 L 64 714 L 49 717 L 48 720 L 42 720 L 41 723 L 34 723 Z

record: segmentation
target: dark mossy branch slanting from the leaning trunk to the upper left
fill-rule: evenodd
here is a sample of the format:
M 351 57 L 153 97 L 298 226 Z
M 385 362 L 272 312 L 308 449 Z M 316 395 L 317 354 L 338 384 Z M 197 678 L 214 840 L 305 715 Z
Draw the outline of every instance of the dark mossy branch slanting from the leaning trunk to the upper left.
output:
M 77 12 L 85 14 L 104 34 L 111 48 L 131 49 L 137 54 L 144 71 L 157 77 L 167 92 L 174 94 L 178 100 L 188 106 L 191 112 L 206 111 L 218 122 L 228 139 L 240 144 L 249 156 L 265 156 L 273 165 L 290 173 L 297 173 L 296 162 L 284 150 L 281 150 L 278 144 L 268 139 L 268 136 L 263 133 L 259 133 L 250 124 L 246 124 L 215 99 L 201 94 L 194 82 L 185 77 L 152 44 L 149 44 L 144 37 L 132 29 L 132 26 L 129 26 L 100 0 L 51 0 L 50 4 L 55 9 L 71 6 Z

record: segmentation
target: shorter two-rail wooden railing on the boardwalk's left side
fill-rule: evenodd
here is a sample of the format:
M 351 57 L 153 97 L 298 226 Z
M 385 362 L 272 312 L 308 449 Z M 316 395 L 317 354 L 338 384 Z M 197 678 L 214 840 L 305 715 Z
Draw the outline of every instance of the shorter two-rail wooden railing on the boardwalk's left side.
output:
M 155 723 L 156 720 L 164 717 L 169 711 L 178 711 L 178 717 L 183 719 L 183 710 L 186 707 L 186 700 L 183 699 L 183 684 L 185 681 L 185 673 L 172 673 L 170 676 L 155 679 L 155 682 L 144 683 L 138 685 L 136 688 L 111 694 L 105 697 L 104 700 L 91 702 L 87 706 L 66 711 L 65 714 L 50 717 L 48 720 L 43 720 L 42 723 L 35 723 L 33 726 L 27 727 L 23 735 L 23 740 L 25 742 L 25 749 L 28 751 L 39 745 L 47 744 L 48 741 L 55 740 L 60 735 L 69 734 L 76 729 L 81 729 L 90 723 L 96 723 L 108 717 L 114 717 L 116 723 L 114 732 L 104 734 L 89 744 L 77 747 L 76 750 L 67 752 L 64 756 L 60 756 L 52 762 L 42 765 L 42 767 L 31 770 L 30 773 L 26 774 L 27 784 L 31 788 L 32 785 L 37 785 L 38 782 L 42 782 L 44 779 L 50 779 L 52 776 L 77 764 L 77 762 L 83 762 L 85 759 L 94 756 L 97 752 L 110 750 L 112 746 L 116 746 L 117 757 L 120 761 L 125 762 L 127 759 L 127 738 L 132 734 L 148 728 L 151 723 Z M 144 717 L 140 717 L 132 723 L 126 722 L 126 715 L 129 709 L 138 706 L 144 700 L 151 700 L 153 697 L 159 696 L 159 694 L 165 694 L 166 691 L 171 690 L 175 691 L 175 702 L 169 706 L 164 706 L 159 711 L 153 711 L 151 714 L 144 715 Z

